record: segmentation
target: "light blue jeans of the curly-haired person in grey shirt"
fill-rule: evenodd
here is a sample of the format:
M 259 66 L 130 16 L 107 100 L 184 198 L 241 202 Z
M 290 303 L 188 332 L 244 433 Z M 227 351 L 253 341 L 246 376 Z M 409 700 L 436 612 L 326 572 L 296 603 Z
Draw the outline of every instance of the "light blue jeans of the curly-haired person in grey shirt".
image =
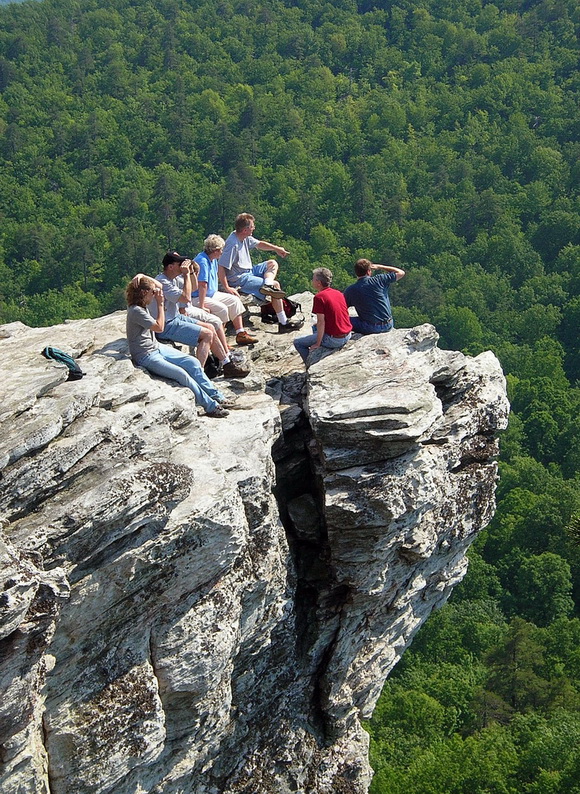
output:
M 215 411 L 218 398 L 224 399 L 201 368 L 199 361 L 171 345 L 159 345 L 157 350 L 140 359 L 138 366 L 154 375 L 175 380 L 180 386 L 190 389 L 195 394 L 196 403 L 208 412 Z

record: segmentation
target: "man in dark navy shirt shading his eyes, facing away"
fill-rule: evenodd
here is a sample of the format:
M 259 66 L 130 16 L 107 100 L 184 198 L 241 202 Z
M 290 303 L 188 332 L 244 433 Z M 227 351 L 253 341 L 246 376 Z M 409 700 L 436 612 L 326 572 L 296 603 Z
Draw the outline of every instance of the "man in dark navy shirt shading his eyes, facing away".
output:
M 381 271 L 373 275 L 373 271 Z M 405 271 L 389 265 L 375 265 L 359 259 L 354 266 L 357 280 L 344 291 L 347 306 L 354 306 L 357 317 L 351 317 L 357 334 L 382 334 L 393 327 L 389 285 L 399 281 Z

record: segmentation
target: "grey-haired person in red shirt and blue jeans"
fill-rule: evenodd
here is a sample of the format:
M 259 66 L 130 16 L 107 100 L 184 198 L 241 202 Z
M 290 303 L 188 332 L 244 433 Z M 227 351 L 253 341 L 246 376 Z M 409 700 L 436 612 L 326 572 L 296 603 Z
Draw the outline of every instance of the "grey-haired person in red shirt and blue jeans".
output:
M 312 311 L 316 315 L 316 325 L 310 336 L 299 336 L 294 347 L 306 363 L 308 353 L 319 347 L 337 350 L 350 339 L 352 325 L 344 295 L 333 289 L 332 271 L 327 267 L 317 267 L 312 271 L 312 286 L 316 290 Z

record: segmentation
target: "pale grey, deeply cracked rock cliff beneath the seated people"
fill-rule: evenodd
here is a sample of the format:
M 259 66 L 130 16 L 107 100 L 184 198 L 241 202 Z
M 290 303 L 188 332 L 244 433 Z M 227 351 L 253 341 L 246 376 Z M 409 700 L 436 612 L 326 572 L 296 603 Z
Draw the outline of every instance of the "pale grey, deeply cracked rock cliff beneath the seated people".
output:
M 431 326 L 305 373 L 252 311 L 222 420 L 123 313 L 0 328 L 3 794 L 367 791 L 360 719 L 493 513 L 505 384 Z

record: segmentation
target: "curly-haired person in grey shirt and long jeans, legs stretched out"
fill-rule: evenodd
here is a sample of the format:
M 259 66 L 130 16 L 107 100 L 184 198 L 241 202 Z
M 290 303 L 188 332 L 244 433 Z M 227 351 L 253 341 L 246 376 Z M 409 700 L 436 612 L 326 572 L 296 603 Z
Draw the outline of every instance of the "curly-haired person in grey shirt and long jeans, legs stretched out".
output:
M 177 381 L 195 395 L 195 401 L 207 416 L 222 419 L 228 415 L 226 397 L 205 375 L 201 364 L 193 356 L 181 353 L 171 345 L 162 345 L 155 333 L 165 328 L 163 289 L 150 276 L 138 273 L 127 285 L 127 340 L 131 360 L 154 375 Z M 157 304 L 157 319 L 147 311 L 151 301 Z

